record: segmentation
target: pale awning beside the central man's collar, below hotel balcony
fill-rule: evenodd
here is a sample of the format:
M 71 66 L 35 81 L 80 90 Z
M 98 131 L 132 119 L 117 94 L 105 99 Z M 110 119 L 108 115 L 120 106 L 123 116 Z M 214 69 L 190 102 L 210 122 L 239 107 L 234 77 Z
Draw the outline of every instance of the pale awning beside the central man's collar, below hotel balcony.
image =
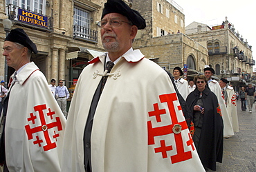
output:
M 66 60 L 77 58 L 78 54 L 84 54 L 84 53 L 91 54 L 91 56 L 93 56 L 93 58 L 104 54 L 104 52 L 100 52 L 97 50 L 91 50 L 91 49 L 88 49 L 85 47 L 68 47 L 68 49 L 69 48 L 72 49 L 73 52 L 68 52 L 66 54 Z

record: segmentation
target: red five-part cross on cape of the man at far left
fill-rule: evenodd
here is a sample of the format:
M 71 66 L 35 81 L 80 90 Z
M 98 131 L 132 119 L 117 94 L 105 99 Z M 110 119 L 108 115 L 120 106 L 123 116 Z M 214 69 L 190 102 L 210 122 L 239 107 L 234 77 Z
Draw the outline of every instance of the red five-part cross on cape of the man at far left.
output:
M 46 105 L 35 106 L 34 110 L 38 111 L 38 113 L 39 113 L 39 119 L 41 121 L 41 125 L 37 126 L 35 128 L 30 128 L 30 125 L 26 125 L 25 129 L 26 129 L 26 133 L 28 135 L 28 140 L 33 139 L 33 133 L 37 133 L 37 132 L 42 131 L 44 133 L 44 138 L 46 140 L 46 145 L 43 148 L 44 148 L 44 151 L 48 151 L 50 149 L 54 149 L 55 147 L 57 147 L 55 142 L 51 142 L 51 138 L 50 138 L 48 129 L 52 129 L 53 127 L 57 127 L 58 131 L 62 131 L 62 123 L 60 122 L 60 118 L 56 117 L 55 122 L 51 122 L 51 123 L 46 124 L 46 119 L 45 119 L 45 116 L 44 116 L 44 110 L 45 109 L 47 109 Z M 52 119 L 54 112 L 51 111 L 50 108 L 48 109 L 48 111 L 49 112 L 47 113 L 47 115 L 51 116 L 51 119 Z M 33 113 L 30 113 L 30 118 L 28 118 L 28 122 L 32 121 L 33 124 L 35 124 L 36 118 L 37 118 L 36 116 L 33 116 Z M 54 133 L 53 138 L 57 139 L 58 136 L 60 136 L 60 135 Z M 34 144 L 39 144 L 39 147 L 41 147 L 42 140 L 39 139 L 39 136 L 36 136 L 36 138 L 37 138 L 37 140 L 33 143 Z

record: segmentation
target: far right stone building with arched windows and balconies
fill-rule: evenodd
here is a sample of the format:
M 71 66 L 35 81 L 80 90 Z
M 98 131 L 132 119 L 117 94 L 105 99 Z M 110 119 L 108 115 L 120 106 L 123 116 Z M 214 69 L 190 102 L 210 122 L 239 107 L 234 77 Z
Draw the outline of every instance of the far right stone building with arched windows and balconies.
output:
M 235 32 L 227 17 L 226 21 L 211 30 L 199 30 L 199 25 L 203 24 L 194 24 L 186 27 L 186 33 L 188 30 L 190 38 L 208 47 L 209 65 L 215 69 L 217 76 L 228 78 L 235 85 L 248 85 L 252 81 L 255 65 L 252 46 L 239 32 Z

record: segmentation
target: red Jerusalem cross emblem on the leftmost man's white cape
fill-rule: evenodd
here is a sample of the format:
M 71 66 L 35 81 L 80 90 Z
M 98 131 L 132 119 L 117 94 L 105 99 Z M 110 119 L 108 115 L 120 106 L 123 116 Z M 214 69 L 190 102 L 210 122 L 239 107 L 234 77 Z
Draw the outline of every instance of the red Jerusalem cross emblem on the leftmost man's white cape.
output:
M 57 137 L 60 137 L 60 134 L 57 133 L 57 131 L 62 131 L 62 122 L 60 121 L 60 117 L 55 117 L 55 111 L 51 111 L 50 108 L 46 108 L 46 105 L 38 105 L 34 107 L 35 113 L 30 113 L 30 117 L 27 119 L 28 122 L 32 122 L 33 125 L 35 125 L 35 121 L 37 120 L 37 123 L 39 122 L 39 126 L 31 128 L 30 125 L 26 125 L 26 133 L 28 136 L 28 140 L 33 139 L 34 133 L 42 132 L 44 138 L 39 138 L 37 135 L 35 136 L 35 141 L 33 144 L 38 144 L 39 147 L 42 147 L 42 144 L 44 144 L 43 148 L 44 151 L 48 151 L 50 149 L 55 149 L 57 147 Z M 44 114 L 44 110 L 48 111 L 46 115 Z M 38 115 L 36 115 L 36 111 L 38 111 Z M 51 118 L 50 123 L 46 123 L 46 117 Z M 51 131 L 49 131 L 51 129 Z M 45 140 L 45 142 L 44 142 Z

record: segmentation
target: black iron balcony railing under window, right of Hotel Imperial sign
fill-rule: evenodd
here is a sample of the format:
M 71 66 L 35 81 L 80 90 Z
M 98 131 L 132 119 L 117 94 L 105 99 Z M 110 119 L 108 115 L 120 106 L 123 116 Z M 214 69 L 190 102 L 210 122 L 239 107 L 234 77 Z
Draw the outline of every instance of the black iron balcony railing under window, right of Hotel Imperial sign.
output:
M 98 31 L 80 25 L 73 25 L 73 37 L 75 39 L 84 39 L 86 41 L 98 43 Z

